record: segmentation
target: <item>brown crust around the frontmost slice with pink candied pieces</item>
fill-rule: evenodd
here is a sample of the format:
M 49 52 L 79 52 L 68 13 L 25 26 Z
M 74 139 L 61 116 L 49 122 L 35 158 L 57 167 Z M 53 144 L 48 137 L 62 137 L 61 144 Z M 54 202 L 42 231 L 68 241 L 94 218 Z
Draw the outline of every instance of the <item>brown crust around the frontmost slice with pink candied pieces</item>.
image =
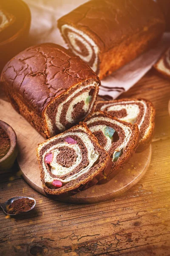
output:
M 103 163 L 101 168 L 99 168 L 93 175 L 90 175 L 90 176 L 86 177 L 83 181 L 80 180 L 78 183 L 75 181 L 74 185 L 70 189 L 69 188 L 64 189 L 64 187 L 63 187 L 62 192 L 58 192 L 57 189 L 49 189 L 47 186 L 45 186 L 44 171 L 43 171 L 41 163 L 40 163 L 40 155 L 39 155 L 39 148 L 40 148 L 40 146 L 43 145 L 44 142 L 40 143 L 38 145 L 39 147 L 36 149 L 36 151 L 37 151 L 38 163 L 39 163 L 39 166 L 40 166 L 42 187 L 43 187 L 46 195 L 50 198 L 54 198 L 54 199 L 56 198 L 57 199 L 57 198 L 63 198 L 63 197 L 68 197 L 68 196 L 71 196 L 71 195 L 75 195 L 77 192 L 82 191 L 84 189 L 89 188 L 90 186 L 95 185 L 96 183 L 98 183 L 99 180 L 101 180 L 102 178 L 107 177 L 107 175 L 110 172 L 112 161 L 111 161 L 111 158 L 110 158 L 109 154 L 104 150 L 104 148 L 102 148 L 99 145 L 96 137 L 91 133 L 91 131 L 88 129 L 88 127 L 85 123 L 81 123 L 80 125 L 76 125 L 76 126 L 70 128 L 69 130 L 64 131 L 62 134 L 67 134 L 70 131 L 75 131 L 75 129 L 82 128 L 82 127 L 90 135 L 91 140 L 97 145 L 97 147 L 100 150 L 102 150 L 102 152 L 105 153 L 105 156 L 106 156 L 105 157 L 105 163 Z M 56 135 L 54 137 L 57 138 L 58 136 L 59 135 Z M 48 139 L 45 142 L 47 142 L 47 141 L 50 142 L 51 139 Z

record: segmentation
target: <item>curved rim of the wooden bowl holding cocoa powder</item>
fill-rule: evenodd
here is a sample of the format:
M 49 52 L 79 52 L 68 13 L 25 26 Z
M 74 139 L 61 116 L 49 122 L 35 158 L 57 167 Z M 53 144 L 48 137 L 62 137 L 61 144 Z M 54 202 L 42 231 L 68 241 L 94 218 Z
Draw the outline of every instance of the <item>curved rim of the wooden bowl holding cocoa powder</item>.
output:
M 8 152 L 6 153 L 6 155 L 0 159 L 0 163 L 2 163 L 4 160 L 6 160 L 8 157 L 11 156 L 11 154 L 13 154 L 16 146 L 17 146 L 17 135 L 14 131 L 14 129 L 8 125 L 6 122 L 0 120 L 0 127 L 6 131 L 6 133 L 8 134 L 8 137 L 10 139 L 10 148 L 8 150 Z

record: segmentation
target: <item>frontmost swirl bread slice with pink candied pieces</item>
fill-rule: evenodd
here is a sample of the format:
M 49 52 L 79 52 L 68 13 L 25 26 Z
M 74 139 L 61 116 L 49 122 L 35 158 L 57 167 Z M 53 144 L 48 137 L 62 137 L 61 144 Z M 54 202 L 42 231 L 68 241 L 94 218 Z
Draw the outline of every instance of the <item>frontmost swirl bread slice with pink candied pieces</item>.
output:
M 93 186 L 107 177 L 112 165 L 109 154 L 85 124 L 40 143 L 37 158 L 43 189 L 52 198 Z

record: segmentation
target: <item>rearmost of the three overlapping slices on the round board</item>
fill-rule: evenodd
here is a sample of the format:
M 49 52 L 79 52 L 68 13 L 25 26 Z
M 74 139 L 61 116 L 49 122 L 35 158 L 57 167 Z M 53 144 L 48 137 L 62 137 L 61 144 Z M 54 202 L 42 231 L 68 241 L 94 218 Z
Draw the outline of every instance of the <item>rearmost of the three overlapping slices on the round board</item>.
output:
M 98 101 L 96 110 L 106 111 L 119 120 L 138 125 L 139 145 L 136 152 L 143 151 L 150 144 L 155 126 L 155 108 L 147 99 Z

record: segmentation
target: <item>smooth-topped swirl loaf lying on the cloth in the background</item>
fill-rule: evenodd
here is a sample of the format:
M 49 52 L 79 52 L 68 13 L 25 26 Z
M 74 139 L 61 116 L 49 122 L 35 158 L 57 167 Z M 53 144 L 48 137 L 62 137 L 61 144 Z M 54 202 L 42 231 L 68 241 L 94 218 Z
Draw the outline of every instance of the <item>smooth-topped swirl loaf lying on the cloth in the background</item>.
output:
M 61 17 L 58 27 L 102 79 L 153 47 L 165 21 L 153 0 L 91 0 Z

